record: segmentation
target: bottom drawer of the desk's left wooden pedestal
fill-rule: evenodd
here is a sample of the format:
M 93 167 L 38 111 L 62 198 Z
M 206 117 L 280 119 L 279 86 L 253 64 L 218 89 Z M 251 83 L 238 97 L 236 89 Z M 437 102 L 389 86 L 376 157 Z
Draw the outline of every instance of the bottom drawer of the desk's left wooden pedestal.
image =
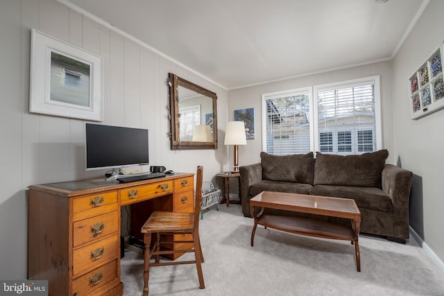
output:
M 72 282 L 72 294 L 80 295 L 94 295 L 94 291 L 99 288 L 111 284 L 112 281 L 119 283 L 117 277 L 117 259 L 106 263 L 105 265 L 96 268 L 85 275 L 74 279 Z

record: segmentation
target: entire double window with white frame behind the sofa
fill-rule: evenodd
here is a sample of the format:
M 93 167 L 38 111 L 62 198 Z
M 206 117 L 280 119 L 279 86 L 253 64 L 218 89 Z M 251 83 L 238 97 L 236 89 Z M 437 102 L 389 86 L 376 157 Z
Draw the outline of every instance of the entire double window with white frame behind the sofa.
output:
M 263 94 L 262 110 L 263 150 L 273 155 L 382 148 L 379 76 Z

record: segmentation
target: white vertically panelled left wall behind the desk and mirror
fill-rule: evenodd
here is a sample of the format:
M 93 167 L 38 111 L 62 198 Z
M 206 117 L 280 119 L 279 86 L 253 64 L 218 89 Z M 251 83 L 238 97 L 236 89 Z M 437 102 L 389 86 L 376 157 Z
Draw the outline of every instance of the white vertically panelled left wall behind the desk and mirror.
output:
M 195 172 L 203 164 L 204 180 L 228 169 L 223 142 L 217 150 L 172 151 L 167 137 L 169 72 L 216 92 L 221 128 L 227 114 L 225 89 L 56 0 L 2 0 L 0 279 L 26 279 L 26 187 L 103 173 L 85 171 L 85 121 L 28 112 L 31 28 L 103 57 L 103 123 L 148 128 L 151 164 L 183 172 Z M 220 129 L 219 137 L 223 139 Z

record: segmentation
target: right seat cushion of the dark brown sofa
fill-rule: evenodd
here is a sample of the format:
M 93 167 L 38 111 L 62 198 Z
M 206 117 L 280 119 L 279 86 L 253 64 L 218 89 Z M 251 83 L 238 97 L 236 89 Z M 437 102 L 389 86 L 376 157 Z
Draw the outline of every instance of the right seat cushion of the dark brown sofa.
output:
M 390 196 L 381 189 L 373 187 L 316 185 L 310 190 L 310 194 L 332 196 L 334 198 L 352 198 L 360 209 L 393 211 Z

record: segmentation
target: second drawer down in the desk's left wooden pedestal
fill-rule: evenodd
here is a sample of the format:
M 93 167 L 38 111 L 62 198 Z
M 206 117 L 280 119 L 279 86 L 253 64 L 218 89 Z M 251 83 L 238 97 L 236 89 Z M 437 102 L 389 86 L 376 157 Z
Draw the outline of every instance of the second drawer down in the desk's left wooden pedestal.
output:
M 74 222 L 73 247 L 99 240 L 118 231 L 118 211 Z

